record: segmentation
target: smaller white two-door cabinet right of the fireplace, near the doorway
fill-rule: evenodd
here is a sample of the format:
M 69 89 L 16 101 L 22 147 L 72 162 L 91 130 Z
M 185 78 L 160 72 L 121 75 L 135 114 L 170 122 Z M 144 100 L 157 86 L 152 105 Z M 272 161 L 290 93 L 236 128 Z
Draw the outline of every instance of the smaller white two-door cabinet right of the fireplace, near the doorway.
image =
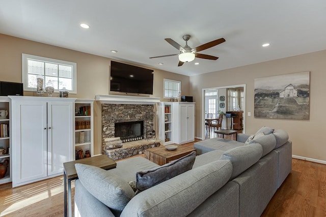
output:
M 174 102 L 172 116 L 173 142 L 184 144 L 195 141 L 195 103 Z

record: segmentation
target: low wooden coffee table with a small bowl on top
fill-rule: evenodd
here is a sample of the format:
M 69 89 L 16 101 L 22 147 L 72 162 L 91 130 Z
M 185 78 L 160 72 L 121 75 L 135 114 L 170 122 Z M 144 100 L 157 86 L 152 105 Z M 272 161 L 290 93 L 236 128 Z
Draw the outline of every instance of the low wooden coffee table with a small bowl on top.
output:
M 191 153 L 192 151 L 196 151 L 195 148 L 189 148 L 183 145 L 176 145 L 176 146 L 178 146 L 176 150 L 168 150 L 165 148 L 165 146 L 146 149 L 145 158 L 161 166 L 171 161 L 177 160 L 183 156 L 186 156 L 188 153 Z

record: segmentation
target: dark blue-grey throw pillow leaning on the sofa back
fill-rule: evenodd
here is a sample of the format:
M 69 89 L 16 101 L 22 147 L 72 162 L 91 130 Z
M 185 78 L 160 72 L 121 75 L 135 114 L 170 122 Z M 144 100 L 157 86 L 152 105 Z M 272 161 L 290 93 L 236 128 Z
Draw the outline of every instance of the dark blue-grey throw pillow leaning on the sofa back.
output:
M 159 184 L 170 178 L 173 178 L 181 173 L 191 170 L 195 163 L 195 159 L 196 159 L 196 152 L 193 151 L 176 161 L 162 165 L 156 169 L 137 172 L 136 194 L 146 189 L 149 189 L 156 184 Z

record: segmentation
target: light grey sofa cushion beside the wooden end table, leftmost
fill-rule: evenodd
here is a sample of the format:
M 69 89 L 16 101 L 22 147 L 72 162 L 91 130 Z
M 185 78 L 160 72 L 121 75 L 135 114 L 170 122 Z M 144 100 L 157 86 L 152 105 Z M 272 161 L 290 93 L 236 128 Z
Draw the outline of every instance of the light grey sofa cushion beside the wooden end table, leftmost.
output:
M 96 199 L 113 210 L 122 211 L 134 196 L 128 182 L 98 167 L 75 164 L 80 182 Z

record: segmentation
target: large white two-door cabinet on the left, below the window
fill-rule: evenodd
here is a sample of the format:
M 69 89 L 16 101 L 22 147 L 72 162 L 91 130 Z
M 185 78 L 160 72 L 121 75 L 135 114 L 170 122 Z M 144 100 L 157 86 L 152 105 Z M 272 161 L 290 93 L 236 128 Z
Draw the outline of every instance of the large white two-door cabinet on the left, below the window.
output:
M 73 160 L 75 98 L 11 98 L 12 186 L 63 173 Z

